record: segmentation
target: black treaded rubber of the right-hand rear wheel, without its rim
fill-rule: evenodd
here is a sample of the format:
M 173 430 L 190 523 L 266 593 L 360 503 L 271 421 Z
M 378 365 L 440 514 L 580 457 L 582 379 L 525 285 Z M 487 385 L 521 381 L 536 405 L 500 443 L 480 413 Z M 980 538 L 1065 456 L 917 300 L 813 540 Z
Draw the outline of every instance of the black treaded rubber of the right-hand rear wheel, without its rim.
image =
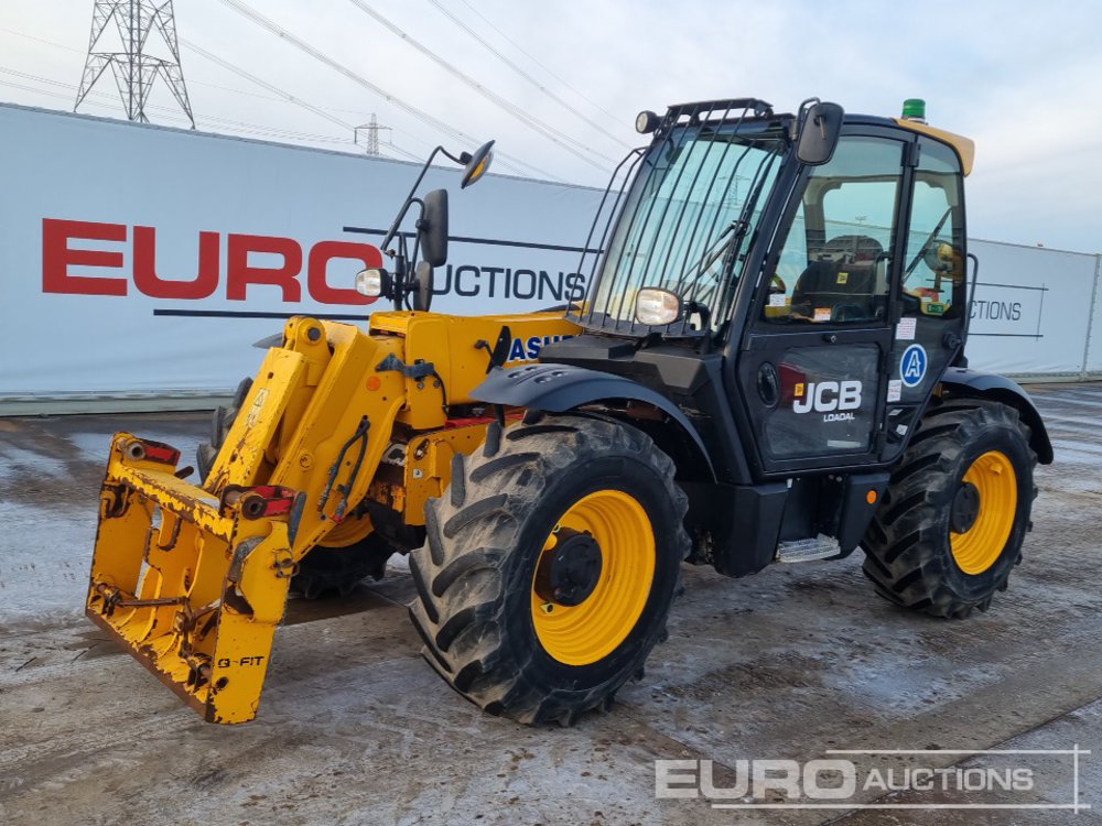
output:
M 970 574 L 953 555 L 951 513 L 964 475 L 988 452 L 1003 454 L 1014 469 L 1016 509 L 997 556 L 986 569 Z M 862 542 L 864 572 L 876 591 L 934 617 L 986 611 L 994 594 L 1006 590 L 1011 570 L 1022 561 L 1037 493 L 1036 464 L 1029 428 L 1013 407 L 983 399 L 931 406 L 896 465 Z

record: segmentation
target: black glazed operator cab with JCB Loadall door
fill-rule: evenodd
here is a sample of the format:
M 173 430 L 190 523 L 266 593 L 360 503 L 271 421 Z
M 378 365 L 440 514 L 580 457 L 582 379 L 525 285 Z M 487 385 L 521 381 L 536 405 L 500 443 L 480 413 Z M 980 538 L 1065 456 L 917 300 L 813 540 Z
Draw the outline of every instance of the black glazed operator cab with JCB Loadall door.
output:
M 644 115 L 586 244 L 587 335 L 541 360 L 695 412 L 724 481 L 890 463 L 963 362 L 971 142 L 815 99 Z

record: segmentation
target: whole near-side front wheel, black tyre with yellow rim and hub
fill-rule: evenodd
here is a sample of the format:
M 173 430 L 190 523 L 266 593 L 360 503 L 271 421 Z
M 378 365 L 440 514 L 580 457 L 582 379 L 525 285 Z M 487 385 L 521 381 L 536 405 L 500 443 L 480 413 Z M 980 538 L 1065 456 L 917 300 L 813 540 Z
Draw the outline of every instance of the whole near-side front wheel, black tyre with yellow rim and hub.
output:
M 456 458 L 410 554 L 425 659 L 520 722 L 608 707 L 666 637 L 689 552 L 673 475 L 648 436 L 616 422 L 491 425 L 482 450 Z

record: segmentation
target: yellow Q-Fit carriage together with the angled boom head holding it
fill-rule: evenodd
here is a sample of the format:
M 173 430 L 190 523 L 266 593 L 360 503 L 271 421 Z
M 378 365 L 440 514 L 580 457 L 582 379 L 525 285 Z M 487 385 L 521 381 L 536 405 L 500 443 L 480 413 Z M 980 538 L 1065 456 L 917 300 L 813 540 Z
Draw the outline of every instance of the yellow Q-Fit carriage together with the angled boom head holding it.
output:
M 283 338 L 202 488 L 177 450 L 119 433 L 100 493 L 86 612 L 212 722 L 256 716 L 298 561 L 371 531 L 353 506 L 409 381 L 377 370 L 399 337 L 295 317 Z

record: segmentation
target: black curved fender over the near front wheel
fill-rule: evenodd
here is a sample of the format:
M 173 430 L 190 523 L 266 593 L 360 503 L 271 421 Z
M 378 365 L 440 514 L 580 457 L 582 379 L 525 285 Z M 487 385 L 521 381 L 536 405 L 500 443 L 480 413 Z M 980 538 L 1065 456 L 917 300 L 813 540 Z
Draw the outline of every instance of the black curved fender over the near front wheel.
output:
M 573 365 L 526 365 L 494 368 L 471 396 L 490 404 L 533 407 L 564 413 L 583 404 L 607 399 L 628 399 L 652 404 L 674 420 L 696 445 L 701 459 L 714 480 L 715 470 L 704 447 L 704 439 L 681 410 L 658 391 L 623 376 L 590 370 Z

